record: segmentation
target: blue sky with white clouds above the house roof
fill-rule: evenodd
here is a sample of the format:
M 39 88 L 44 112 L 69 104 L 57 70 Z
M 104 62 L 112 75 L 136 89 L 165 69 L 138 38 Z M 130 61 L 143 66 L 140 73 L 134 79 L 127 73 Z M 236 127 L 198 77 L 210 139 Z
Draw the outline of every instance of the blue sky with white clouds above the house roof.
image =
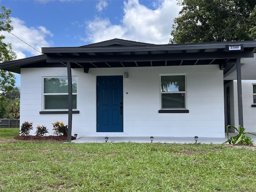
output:
M 113 38 L 167 44 L 180 10 L 176 0 L 0 0 L 2 5 L 12 10 L 12 33 L 38 51 Z M 12 34 L 3 34 L 17 59 L 40 54 Z

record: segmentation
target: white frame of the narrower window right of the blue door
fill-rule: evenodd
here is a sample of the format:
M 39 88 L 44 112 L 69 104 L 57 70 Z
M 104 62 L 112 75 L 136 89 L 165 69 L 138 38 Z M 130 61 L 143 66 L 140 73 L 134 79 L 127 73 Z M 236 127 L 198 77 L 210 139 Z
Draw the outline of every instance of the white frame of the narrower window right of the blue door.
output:
M 184 76 L 185 77 L 185 91 L 178 91 L 178 92 L 162 92 L 162 88 L 161 88 L 161 85 L 162 85 L 162 79 L 161 77 L 162 76 Z M 160 85 L 159 85 L 159 88 L 160 88 L 160 110 L 185 110 L 187 109 L 187 77 L 186 77 L 186 74 L 160 74 Z M 162 94 L 170 94 L 170 93 L 184 93 L 185 94 L 185 97 L 184 97 L 184 108 L 162 108 Z

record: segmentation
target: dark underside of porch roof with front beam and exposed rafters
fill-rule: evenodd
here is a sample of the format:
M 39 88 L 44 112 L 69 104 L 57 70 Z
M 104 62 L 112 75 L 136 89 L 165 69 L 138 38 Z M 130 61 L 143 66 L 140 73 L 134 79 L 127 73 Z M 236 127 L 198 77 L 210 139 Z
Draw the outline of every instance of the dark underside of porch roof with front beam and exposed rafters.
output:
M 45 53 L 47 62 L 70 61 L 72 68 L 111 68 L 145 66 L 183 66 L 229 63 L 234 64 L 236 57 L 230 53 L 184 51 L 148 52 L 94 52 L 92 53 Z M 233 57 L 233 58 L 232 58 Z

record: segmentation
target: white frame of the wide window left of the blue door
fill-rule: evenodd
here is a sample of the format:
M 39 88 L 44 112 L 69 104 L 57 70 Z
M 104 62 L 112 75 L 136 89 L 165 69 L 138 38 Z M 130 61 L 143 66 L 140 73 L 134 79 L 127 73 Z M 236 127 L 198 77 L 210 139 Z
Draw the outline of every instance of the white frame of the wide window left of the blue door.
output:
M 68 93 L 44 93 L 44 79 L 46 78 L 68 78 L 68 76 L 44 76 L 42 77 L 42 110 L 43 111 L 67 111 L 68 109 L 45 109 L 45 100 L 44 96 L 46 95 L 68 95 Z M 76 93 L 72 92 L 72 95 L 76 95 L 76 108 L 73 110 L 77 110 L 77 103 L 78 103 L 78 76 L 72 76 L 72 78 L 76 78 Z

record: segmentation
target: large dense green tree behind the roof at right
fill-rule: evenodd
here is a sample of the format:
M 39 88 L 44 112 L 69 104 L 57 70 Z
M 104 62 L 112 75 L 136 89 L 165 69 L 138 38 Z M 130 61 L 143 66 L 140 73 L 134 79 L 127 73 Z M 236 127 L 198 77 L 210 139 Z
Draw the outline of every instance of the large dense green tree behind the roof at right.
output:
M 178 0 L 170 43 L 256 40 L 255 0 Z

